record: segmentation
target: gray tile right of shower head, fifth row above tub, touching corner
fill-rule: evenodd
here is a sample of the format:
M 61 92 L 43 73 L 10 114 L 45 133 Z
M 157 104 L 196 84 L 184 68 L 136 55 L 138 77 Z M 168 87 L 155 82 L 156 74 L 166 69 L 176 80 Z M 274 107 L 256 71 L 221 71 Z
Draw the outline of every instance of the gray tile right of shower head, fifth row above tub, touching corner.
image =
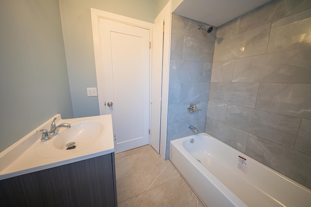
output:
M 216 41 L 213 62 L 266 53 L 271 24 Z

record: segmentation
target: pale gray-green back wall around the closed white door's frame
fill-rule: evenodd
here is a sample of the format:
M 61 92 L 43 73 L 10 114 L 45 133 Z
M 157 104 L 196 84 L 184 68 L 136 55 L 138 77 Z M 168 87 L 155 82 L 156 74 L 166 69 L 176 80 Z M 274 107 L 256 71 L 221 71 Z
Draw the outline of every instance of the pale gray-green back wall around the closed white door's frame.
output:
M 59 4 L 74 117 L 99 115 L 98 97 L 86 96 L 86 87 L 97 87 L 90 8 L 153 23 L 165 0 L 59 0 Z

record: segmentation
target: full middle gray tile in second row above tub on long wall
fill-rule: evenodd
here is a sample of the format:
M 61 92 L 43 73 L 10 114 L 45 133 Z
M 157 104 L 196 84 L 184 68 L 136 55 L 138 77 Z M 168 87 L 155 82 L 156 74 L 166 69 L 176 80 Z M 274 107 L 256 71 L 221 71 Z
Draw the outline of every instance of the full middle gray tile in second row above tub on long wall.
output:
M 229 105 L 225 123 L 271 141 L 294 147 L 301 119 Z

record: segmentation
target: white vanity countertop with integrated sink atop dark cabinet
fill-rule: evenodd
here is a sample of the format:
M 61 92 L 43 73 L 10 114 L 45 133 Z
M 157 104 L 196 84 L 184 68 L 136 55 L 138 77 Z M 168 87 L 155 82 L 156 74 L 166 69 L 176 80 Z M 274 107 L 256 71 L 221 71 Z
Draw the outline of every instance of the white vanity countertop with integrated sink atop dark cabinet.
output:
M 57 125 L 69 123 L 71 127 L 60 128 L 51 140 L 41 142 L 37 131 L 50 129 L 54 117 Z M 75 147 L 67 150 L 66 144 L 71 142 Z M 57 114 L 0 153 L 0 180 L 112 152 L 111 115 L 61 119 Z

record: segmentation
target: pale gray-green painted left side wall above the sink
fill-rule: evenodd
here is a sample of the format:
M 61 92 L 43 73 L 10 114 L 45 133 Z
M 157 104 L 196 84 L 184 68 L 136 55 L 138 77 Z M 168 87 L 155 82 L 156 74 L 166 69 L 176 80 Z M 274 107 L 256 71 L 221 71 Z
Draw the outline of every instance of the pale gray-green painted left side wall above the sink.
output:
M 56 113 L 73 113 L 58 1 L 1 1 L 0 28 L 2 151 Z

